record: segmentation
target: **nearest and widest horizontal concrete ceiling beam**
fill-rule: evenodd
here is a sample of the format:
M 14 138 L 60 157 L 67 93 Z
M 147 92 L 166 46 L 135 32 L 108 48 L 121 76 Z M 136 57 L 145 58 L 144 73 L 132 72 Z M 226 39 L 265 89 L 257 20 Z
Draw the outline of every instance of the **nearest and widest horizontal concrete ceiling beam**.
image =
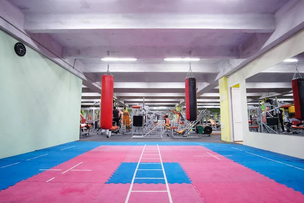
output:
M 273 32 L 275 28 L 272 14 L 31 14 L 25 20 L 25 29 L 36 33 L 68 33 L 84 29 Z

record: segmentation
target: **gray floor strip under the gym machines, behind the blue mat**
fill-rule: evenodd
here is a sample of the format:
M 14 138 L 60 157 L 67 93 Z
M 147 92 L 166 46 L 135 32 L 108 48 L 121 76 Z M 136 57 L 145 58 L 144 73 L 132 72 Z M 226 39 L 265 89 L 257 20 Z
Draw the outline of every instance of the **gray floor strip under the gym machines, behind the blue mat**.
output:
M 200 139 L 172 139 L 167 137 L 166 134 L 163 139 L 145 138 L 145 139 L 132 139 L 131 134 L 124 134 L 122 136 L 111 136 L 106 138 L 105 134 L 90 133 L 89 136 L 80 138 L 80 141 L 95 141 L 95 142 L 204 142 L 204 143 L 223 143 L 223 144 L 235 144 L 223 142 L 220 136 L 202 137 Z

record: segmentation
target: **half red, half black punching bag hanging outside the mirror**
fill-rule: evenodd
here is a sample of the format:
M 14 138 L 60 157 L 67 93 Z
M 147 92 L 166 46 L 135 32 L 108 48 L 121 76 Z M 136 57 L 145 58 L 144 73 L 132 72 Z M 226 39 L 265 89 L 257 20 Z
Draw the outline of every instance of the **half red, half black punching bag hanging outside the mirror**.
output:
M 198 117 L 197 98 L 196 98 L 196 79 L 185 79 L 186 92 L 186 119 L 188 121 L 196 121 Z

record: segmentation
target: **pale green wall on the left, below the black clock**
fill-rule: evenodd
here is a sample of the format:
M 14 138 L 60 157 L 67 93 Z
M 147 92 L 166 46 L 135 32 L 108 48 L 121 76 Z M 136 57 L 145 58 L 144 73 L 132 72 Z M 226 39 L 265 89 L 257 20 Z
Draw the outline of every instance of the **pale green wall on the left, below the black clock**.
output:
M 82 80 L 0 30 L 0 158 L 79 140 Z

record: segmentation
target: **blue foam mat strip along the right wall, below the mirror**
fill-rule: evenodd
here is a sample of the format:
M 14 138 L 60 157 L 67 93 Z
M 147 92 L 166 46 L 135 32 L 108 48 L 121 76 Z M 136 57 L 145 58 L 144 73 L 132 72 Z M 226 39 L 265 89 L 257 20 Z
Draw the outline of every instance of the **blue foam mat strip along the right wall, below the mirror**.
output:
M 213 145 L 207 145 L 204 147 L 220 155 L 232 155 L 226 158 L 304 194 L 303 159 L 248 146 L 227 146 L 219 148 Z M 233 151 L 232 149 L 234 148 L 232 147 L 239 150 L 236 149 Z

